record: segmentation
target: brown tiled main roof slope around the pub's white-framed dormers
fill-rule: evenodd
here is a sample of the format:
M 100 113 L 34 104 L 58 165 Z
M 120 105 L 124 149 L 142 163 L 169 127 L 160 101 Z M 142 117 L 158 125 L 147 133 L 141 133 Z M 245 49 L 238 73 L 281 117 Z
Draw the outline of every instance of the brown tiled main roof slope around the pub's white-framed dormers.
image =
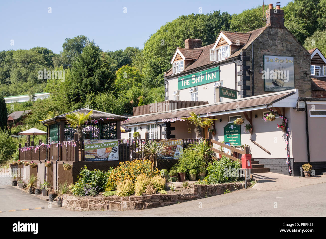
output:
M 254 31 L 250 31 L 247 33 L 235 33 L 235 32 L 225 32 L 223 31 L 224 35 L 228 35 L 231 37 L 230 41 L 234 41 L 236 43 L 236 40 L 241 38 L 240 42 L 242 42 L 241 44 L 245 44 L 240 50 L 234 52 L 228 59 L 231 59 L 233 57 L 236 57 L 240 54 L 240 52 L 244 49 L 246 49 L 248 46 L 250 46 L 250 44 L 263 32 L 265 31 L 265 29 L 268 28 L 268 26 L 256 29 Z M 227 36 L 227 37 L 228 37 Z M 239 38 L 236 38 L 239 37 Z M 246 41 L 247 39 L 247 41 Z M 246 42 L 245 42 L 246 41 Z M 233 42 L 232 42 L 233 43 Z M 211 45 L 207 45 L 207 46 L 202 46 L 199 48 L 194 48 L 196 50 L 202 50 L 202 53 L 200 54 L 199 58 L 192 63 L 190 66 L 188 66 L 187 68 L 185 68 L 185 70 L 183 71 L 184 74 L 187 74 L 187 72 L 194 70 L 196 68 L 199 67 L 203 67 L 203 66 L 207 66 L 207 65 L 219 65 L 221 63 L 223 63 L 225 60 L 221 60 L 218 62 L 215 61 L 210 61 L 209 60 L 209 50 L 212 49 L 214 46 L 214 43 Z M 180 48 L 179 48 L 180 49 Z M 226 60 L 228 60 L 226 59 Z M 165 76 L 170 76 L 172 74 L 172 68 L 170 68 L 169 71 L 166 72 Z

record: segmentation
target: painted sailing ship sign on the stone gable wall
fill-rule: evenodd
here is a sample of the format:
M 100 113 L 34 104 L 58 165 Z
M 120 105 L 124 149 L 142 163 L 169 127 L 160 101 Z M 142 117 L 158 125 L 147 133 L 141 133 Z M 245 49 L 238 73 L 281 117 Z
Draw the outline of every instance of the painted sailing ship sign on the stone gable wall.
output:
M 265 91 L 294 89 L 294 57 L 264 55 Z

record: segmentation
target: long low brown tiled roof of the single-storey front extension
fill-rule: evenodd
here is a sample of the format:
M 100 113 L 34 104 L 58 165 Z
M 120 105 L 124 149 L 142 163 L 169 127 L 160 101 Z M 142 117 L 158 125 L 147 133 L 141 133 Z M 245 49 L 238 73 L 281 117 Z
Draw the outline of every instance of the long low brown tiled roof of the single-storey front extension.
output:
M 177 110 L 176 112 L 169 111 L 169 112 L 162 112 L 162 113 L 140 115 L 140 116 L 130 117 L 128 122 L 122 123 L 122 125 L 149 122 L 149 121 L 161 120 L 161 119 L 170 119 L 176 117 L 186 117 L 189 116 L 189 112 L 194 112 L 196 114 L 206 114 L 206 113 L 217 113 L 217 112 L 236 110 L 239 109 L 239 107 L 240 109 L 244 109 L 250 107 L 263 106 L 265 104 L 271 104 L 273 101 L 281 100 L 284 97 L 292 95 L 293 92 L 295 91 L 278 92 L 277 94 L 271 93 L 271 94 L 259 95 L 255 97 L 250 97 L 249 99 L 244 98 L 240 100 L 233 100 L 230 102 L 219 102 L 210 105 L 189 107 L 189 108 Z

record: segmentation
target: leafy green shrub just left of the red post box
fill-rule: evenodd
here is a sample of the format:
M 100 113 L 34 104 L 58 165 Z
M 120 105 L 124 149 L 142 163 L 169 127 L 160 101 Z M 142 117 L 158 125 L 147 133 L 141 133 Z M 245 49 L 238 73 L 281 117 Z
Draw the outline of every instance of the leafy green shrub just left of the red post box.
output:
M 231 168 L 231 172 L 230 172 Z M 207 167 L 208 175 L 205 178 L 209 184 L 225 183 L 238 180 L 235 169 L 240 168 L 240 163 L 223 156 L 220 161 L 214 161 Z

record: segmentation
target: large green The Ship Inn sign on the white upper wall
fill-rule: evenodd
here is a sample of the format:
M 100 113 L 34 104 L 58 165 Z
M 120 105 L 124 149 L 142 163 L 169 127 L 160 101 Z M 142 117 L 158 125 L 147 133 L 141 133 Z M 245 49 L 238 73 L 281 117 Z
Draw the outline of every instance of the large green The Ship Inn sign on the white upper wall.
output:
M 186 89 L 220 80 L 220 67 L 185 75 L 178 78 L 178 89 Z

